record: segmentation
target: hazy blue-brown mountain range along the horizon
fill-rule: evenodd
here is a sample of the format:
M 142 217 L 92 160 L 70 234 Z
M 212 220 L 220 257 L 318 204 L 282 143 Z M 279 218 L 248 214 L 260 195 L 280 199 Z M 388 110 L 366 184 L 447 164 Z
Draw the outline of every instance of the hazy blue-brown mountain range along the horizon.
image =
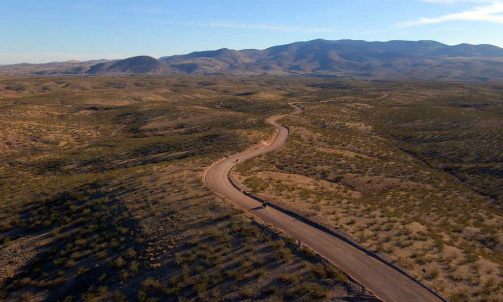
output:
M 267 49 L 0 66 L 4 74 L 201 74 L 362 80 L 503 81 L 503 48 L 436 41 L 323 40 Z

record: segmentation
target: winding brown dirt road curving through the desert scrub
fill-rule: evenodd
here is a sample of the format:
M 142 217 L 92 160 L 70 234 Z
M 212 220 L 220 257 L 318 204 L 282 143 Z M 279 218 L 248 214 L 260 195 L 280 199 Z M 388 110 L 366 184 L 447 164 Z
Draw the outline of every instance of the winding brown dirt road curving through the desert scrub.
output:
M 302 108 L 291 103 L 290 105 L 294 107 L 294 113 L 302 111 Z M 443 301 L 442 298 L 421 284 L 414 282 L 384 262 L 369 256 L 357 247 L 285 212 L 272 207 L 263 208 L 259 201 L 244 195 L 231 184 L 229 173 L 237 165 L 238 159 L 239 162 L 242 162 L 285 145 L 288 129 L 276 123 L 276 120 L 283 116 L 276 115 L 267 119 L 269 124 L 279 130 L 269 145 L 258 150 L 230 156 L 214 164 L 206 171 L 204 176 L 206 184 L 220 195 L 233 200 L 259 218 L 295 237 L 384 301 Z

